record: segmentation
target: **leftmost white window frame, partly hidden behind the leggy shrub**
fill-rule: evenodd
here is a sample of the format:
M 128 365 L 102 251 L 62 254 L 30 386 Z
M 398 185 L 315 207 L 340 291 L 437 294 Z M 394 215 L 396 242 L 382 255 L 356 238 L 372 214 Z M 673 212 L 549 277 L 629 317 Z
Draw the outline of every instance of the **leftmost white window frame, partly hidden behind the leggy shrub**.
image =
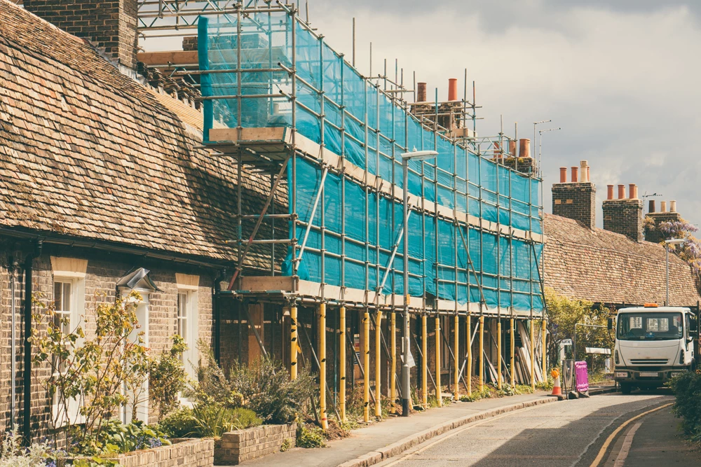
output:
M 52 258 L 53 263 L 54 258 Z M 87 261 L 85 262 L 87 264 Z M 77 271 L 54 271 L 52 298 L 55 293 L 55 284 L 71 284 L 71 310 L 69 312 L 70 331 L 72 332 L 81 324 L 81 317 L 85 313 L 85 272 L 84 270 Z M 81 342 L 76 342 L 80 345 Z M 51 375 L 56 377 L 57 373 Z M 67 424 L 80 424 L 83 422 L 83 416 L 80 414 L 81 400 L 68 401 L 68 414 L 62 413 L 59 404 L 58 393 L 54 394 L 51 401 L 51 419 L 54 428 L 60 428 Z

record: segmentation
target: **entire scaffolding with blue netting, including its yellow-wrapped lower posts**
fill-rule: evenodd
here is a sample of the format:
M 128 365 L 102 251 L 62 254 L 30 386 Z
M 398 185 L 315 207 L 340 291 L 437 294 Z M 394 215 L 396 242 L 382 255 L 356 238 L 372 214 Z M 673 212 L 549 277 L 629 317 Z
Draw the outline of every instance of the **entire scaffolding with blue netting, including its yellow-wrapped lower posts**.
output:
M 142 36 L 194 28 L 198 63 L 174 70 L 200 87 L 203 147 L 237 168 L 236 270 L 219 298 L 236 299 L 226 326 L 236 323 L 227 344 L 237 343 L 239 361 L 267 348 L 293 378 L 302 366 L 318 370 L 322 427 L 327 402 L 346 418 L 346 389 L 362 378 L 367 420 L 379 416 L 383 396 L 402 397 L 396 314 L 406 310 L 418 357 L 414 402 L 426 405 L 432 389 L 438 400 L 447 395 L 444 368 L 454 397 L 460 384 L 471 393 L 488 380 L 500 389 L 542 380 L 533 328 L 536 318 L 544 323 L 541 181 L 532 163 L 517 170 L 519 141 L 503 128 L 477 136 L 467 72 L 462 99 L 439 102 L 436 91 L 433 102 L 416 102 L 415 78 L 408 89 L 404 71 L 395 63 L 391 78 L 386 62 L 373 76 L 372 58 L 363 76 L 294 5 L 139 4 Z M 404 284 L 401 154 L 423 150 L 438 155 L 409 162 Z M 262 206 L 242 197 L 252 173 L 269 181 Z M 244 274 L 252 254 L 268 267 Z

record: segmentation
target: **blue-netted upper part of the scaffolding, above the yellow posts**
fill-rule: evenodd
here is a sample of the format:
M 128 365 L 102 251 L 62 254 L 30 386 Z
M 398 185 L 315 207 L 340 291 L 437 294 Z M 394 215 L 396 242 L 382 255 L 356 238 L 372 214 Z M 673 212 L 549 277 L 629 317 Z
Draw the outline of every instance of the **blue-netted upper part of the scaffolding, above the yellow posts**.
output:
M 204 144 L 234 158 L 239 171 L 245 165 L 276 176 L 262 212 L 244 212 L 239 203 L 239 225 L 254 227 L 248 239 L 238 230 L 233 290 L 346 306 L 400 304 L 400 154 L 433 149 L 435 162 L 409 162 L 411 309 L 540 312 L 540 180 L 498 164 L 512 140 L 474 132 L 451 139 L 438 125 L 437 95 L 433 122 L 417 118 L 399 79 L 362 76 L 292 6 L 240 8 L 235 16 L 199 21 Z M 474 115 L 466 98 L 459 104 Z M 212 130 L 215 115 L 228 128 Z M 270 200 L 285 183 L 289 211 L 271 214 Z M 276 218 L 287 221 L 287 238 L 274 238 L 274 228 L 265 229 L 273 237 L 257 237 Z M 247 252 L 261 244 L 287 246 L 283 277 L 241 277 Z

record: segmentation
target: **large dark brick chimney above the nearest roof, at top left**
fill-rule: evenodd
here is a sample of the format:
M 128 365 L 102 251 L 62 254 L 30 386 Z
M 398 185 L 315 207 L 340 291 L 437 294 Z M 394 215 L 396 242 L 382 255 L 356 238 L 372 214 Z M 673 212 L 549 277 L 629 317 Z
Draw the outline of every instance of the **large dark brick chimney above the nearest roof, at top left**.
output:
M 74 36 L 104 47 L 128 68 L 136 66 L 136 0 L 25 0 L 27 11 Z

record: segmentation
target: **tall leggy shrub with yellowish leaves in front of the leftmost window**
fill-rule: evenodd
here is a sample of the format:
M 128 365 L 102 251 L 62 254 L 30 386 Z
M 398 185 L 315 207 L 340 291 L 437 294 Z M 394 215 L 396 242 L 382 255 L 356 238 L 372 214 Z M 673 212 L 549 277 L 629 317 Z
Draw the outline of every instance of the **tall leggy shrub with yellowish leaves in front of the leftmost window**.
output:
M 68 321 L 56 314 L 52 305 L 46 307 L 34 297 L 32 301 L 36 327 L 31 338 L 37 349 L 32 360 L 50 367 L 52 376 L 43 384 L 55 398 L 54 426 L 67 425 L 68 445 L 83 446 L 99 437 L 118 408 L 135 403 L 137 395 L 124 391 L 125 387 L 140 387 L 147 377 L 149 349 L 136 317 L 142 297 L 132 292 L 114 303 L 100 303 L 90 335 L 84 331 L 88 316 L 64 332 Z M 72 418 L 69 410 L 76 404 L 79 419 Z

